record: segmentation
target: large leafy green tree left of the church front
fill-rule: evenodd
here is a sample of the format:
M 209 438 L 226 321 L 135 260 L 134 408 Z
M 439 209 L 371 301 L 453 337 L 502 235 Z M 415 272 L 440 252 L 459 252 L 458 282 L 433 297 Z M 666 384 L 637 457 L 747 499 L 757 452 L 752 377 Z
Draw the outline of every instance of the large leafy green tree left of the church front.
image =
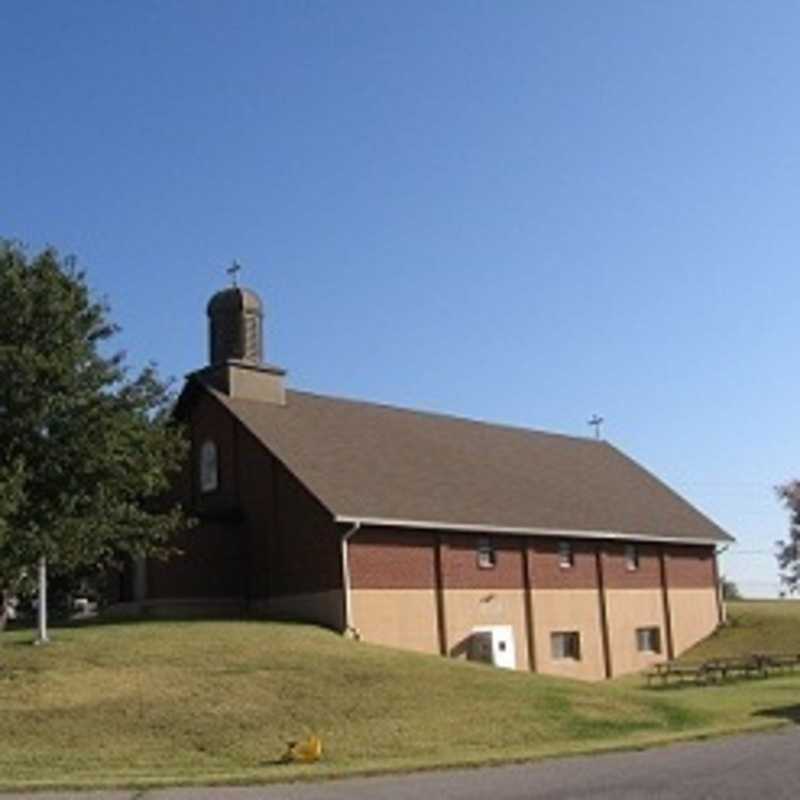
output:
M 35 574 L 164 554 L 186 454 L 168 387 L 131 376 L 74 259 L 0 242 L 0 593 Z M 5 606 L 5 604 L 3 604 Z M 0 625 L 4 615 L 0 615 Z

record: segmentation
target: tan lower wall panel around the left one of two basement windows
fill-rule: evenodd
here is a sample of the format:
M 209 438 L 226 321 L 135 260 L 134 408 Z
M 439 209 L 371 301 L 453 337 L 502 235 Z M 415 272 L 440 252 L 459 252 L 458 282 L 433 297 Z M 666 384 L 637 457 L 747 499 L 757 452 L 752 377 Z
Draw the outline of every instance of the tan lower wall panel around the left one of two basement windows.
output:
M 536 670 L 584 680 L 605 678 L 603 639 L 600 632 L 600 606 L 595 589 L 534 589 L 533 627 L 536 643 Z M 550 634 L 578 631 L 581 635 L 581 660 L 551 656 Z

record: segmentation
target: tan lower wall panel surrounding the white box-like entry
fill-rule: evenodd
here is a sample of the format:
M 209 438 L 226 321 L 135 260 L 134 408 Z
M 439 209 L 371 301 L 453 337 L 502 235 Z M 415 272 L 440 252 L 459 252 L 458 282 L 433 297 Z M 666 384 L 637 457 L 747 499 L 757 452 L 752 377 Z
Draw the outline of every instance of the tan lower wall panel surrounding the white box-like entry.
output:
M 528 639 L 525 596 L 520 589 L 448 589 L 444 593 L 447 649 L 467 656 L 472 629 L 481 625 L 510 625 L 514 631 L 516 669 L 527 670 Z

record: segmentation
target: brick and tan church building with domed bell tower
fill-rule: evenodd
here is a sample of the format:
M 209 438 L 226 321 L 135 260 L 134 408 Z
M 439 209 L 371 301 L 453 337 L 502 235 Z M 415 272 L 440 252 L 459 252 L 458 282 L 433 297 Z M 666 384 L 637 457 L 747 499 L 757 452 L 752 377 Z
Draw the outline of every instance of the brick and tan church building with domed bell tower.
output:
M 723 617 L 731 541 L 605 441 L 287 388 L 262 305 L 208 304 L 176 416 L 199 523 L 130 608 L 268 614 L 353 639 L 584 678 L 673 658 Z

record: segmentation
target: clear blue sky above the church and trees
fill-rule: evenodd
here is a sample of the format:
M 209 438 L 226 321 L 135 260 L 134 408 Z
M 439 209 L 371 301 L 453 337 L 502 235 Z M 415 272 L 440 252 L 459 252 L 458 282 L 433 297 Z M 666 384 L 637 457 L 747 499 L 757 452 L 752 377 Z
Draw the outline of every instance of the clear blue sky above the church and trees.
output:
M 138 367 L 232 259 L 295 388 L 603 436 L 778 589 L 800 477 L 800 4 L 3 0 L 0 237 Z

